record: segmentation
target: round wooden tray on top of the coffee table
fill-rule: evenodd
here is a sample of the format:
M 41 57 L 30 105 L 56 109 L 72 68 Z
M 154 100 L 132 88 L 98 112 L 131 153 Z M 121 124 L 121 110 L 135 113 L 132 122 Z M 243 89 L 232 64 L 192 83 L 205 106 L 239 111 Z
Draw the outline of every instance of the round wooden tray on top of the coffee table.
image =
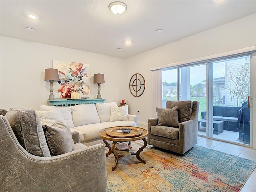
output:
M 120 130 L 120 128 L 130 129 L 130 133 L 117 132 Z M 140 128 L 129 127 L 129 126 L 113 127 L 113 129 L 106 130 L 106 134 L 108 136 L 115 137 L 115 138 L 137 137 L 137 136 L 140 136 L 142 133 L 143 133 L 143 131 Z

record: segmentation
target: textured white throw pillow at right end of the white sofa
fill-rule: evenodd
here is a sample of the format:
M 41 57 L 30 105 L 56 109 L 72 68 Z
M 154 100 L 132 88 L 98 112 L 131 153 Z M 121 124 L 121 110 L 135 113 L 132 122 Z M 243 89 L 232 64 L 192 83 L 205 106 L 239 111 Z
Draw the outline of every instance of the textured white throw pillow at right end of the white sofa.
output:
M 128 120 L 128 105 L 118 107 L 111 107 L 110 121 L 124 121 Z

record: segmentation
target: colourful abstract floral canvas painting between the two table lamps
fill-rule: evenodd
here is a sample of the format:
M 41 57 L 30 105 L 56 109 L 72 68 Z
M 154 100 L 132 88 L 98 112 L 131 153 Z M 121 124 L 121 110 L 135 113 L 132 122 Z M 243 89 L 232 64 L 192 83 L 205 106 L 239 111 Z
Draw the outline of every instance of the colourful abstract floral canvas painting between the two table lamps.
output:
M 53 68 L 58 69 L 60 81 L 54 85 L 54 96 L 70 98 L 72 92 L 79 92 L 80 97 L 90 94 L 89 65 L 77 62 L 53 60 Z

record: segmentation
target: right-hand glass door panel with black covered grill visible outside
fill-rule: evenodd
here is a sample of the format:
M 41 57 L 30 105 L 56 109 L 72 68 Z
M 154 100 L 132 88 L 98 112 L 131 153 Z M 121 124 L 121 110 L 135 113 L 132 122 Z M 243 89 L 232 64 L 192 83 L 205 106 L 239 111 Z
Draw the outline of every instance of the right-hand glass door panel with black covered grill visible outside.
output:
M 250 55 L 208 62 L 208 137 L 250 144 Z

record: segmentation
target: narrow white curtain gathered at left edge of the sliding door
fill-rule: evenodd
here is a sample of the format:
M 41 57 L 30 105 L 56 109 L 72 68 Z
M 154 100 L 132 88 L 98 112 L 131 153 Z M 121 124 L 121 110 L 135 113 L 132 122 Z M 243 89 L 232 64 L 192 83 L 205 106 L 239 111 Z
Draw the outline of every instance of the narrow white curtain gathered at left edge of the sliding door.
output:
M 157 117 L 156 107 L 162 107 L 162 70 L 153 70 L 153 117 Z

